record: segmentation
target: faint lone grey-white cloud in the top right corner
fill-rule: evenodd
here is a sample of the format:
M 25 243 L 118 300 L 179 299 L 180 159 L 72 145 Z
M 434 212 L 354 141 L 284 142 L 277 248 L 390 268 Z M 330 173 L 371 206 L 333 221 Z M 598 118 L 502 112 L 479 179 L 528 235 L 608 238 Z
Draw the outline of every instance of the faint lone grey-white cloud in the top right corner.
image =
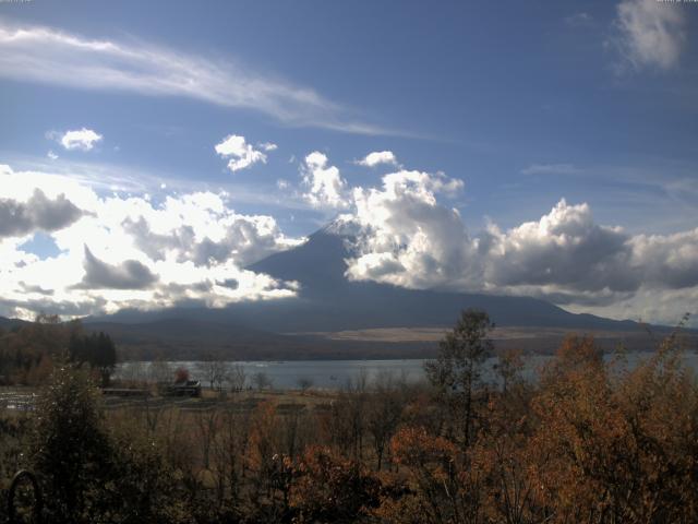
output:
M 623 0 L 617 7 L 615 40 L 625 64 L 669 70 L 686 43 L 683 8 L 657 0 Z

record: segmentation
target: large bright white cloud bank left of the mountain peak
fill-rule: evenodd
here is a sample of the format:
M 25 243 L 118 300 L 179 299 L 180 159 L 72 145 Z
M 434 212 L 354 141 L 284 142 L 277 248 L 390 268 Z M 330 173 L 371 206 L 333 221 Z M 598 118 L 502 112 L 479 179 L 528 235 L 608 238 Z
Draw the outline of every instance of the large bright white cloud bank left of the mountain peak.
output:
M 3 203 L 24 210 L 20 224 L 0 236 L 3 312 L 81 315 L 182 301 L 222 307 L 296 294 L 293 283 L 243 267 L 302 239 L 286 237 L 270 216 L 236 213 L 224 193 L 168 195 L 156 204 L 143 193 L 98 194 L 80 179 L 8 166 L 0 166 L 0 188 Z M 24 251 L 37 228 L 60 254 L 41 260 Z

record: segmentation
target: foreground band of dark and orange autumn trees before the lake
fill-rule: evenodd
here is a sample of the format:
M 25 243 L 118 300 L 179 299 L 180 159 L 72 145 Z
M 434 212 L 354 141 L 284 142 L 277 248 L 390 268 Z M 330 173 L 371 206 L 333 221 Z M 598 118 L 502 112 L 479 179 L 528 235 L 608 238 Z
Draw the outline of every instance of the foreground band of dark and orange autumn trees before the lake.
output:
M 33 327 L 26 380 L 46 378 L 36 410 L 0 420 L 2 487 L 34 472 L 44 522 L 698 522 L 698 385 L 678 332 L 633 367 L 622 348 L 603 359 L 592 338 L 569 336 L 535 382 L 503 353 L 493 386 L 481 380 L 492 325 L 466 311 L 424 383 L 386 374 L 185 408 L 108 407 L 97 385 L 109 365 L 72 327 Z M 59 332 L 82 353 L 46 360 L 41 337 Z

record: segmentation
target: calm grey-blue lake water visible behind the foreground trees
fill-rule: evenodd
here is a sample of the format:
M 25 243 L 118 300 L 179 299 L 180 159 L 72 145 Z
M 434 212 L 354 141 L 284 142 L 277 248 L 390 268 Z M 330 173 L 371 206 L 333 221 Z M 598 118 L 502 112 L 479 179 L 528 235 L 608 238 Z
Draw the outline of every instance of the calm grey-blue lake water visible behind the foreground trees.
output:
M 649 358 L 651 353 L 628 354 L 627 359 L 630 367 L 637 362 Z M 604 358 L 610 359 L 612 355 Z M 538 370 L 551 357 L 542 355 L 527 355 L 524 357 L 524 377 L 533 380 Z M 698 369 L 698 355 L 686 353 L 684 361 L 687 367 Z M 270 379 L 275 389 L 297 389 L 301 380 L 310 380 L 314 388 L 339 389 L 348 381 L 356 381 L 362 374 L 366 377 L 369 383 L 380 380 L 386 374 L 395 378 L 405 377 L 408 382 L 424 380 L 424 359 L 404 360 L 286 360 L 286 361 L 236 361 L 231 365 L 240 365 L 248 377 L 248 385 L 252 384 L 252 378 L 256 373 L 264 373 Z M 198 361 L 170 361 L 167 362 L 173 371 L 177 368 L 185 368 L 192 379 L 201 380 L 202 385 L 206 383 L 205 376 Z M 496 359 L 488 359 L 483 366 L 482 378 L 486 382 L 496 382 L 496 374 L 493 366 Z M 154 380 L 152 362 L 123 362 L 117 368 L 115 378 L 132 380 Z

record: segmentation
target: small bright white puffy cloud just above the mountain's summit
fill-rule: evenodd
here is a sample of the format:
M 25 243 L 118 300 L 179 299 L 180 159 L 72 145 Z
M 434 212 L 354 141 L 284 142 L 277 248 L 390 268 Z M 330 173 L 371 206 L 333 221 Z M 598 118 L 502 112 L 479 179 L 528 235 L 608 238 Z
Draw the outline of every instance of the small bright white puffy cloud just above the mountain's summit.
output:
M 330 166 L 327 156 L 318 151 L 305 156 L 301 166 L 304 199 L 315 207 L 345 209 L 349 205 L 347 181 L 336 166 Z

